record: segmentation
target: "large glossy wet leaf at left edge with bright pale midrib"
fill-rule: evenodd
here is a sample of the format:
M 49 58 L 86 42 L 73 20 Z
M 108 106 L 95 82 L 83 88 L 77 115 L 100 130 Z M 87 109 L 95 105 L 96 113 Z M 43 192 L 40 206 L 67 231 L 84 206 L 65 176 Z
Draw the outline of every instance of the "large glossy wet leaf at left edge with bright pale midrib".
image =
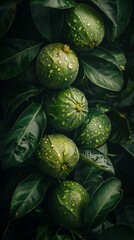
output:
M 3 168 L 23 163 L 35 151 L 44 129 L 46 114 L 42 104 L 31 103 L 10 130 L 2 156 Z

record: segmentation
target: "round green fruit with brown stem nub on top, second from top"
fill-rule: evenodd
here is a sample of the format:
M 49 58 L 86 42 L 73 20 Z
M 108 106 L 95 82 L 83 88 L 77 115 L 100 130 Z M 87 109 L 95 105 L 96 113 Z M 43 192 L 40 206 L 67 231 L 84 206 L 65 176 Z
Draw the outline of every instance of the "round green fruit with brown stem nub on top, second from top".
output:
M 66 44 L 52 43 L 43 47 L 36 62 L 39 81 L 49 89 L 62 89 L 74 82 L 79 61 Z

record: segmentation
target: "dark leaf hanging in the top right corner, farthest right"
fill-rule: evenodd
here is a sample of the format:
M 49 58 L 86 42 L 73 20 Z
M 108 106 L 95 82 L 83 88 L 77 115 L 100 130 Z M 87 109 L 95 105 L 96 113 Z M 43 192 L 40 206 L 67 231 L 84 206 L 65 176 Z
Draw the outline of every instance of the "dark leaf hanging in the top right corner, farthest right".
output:
M 120 34 L 126 28 L 131 12 L 132 12 L 132 1 L 131 0 L 117 0 L 117 25 L 113 30 L 113 38 L 118 38 Z

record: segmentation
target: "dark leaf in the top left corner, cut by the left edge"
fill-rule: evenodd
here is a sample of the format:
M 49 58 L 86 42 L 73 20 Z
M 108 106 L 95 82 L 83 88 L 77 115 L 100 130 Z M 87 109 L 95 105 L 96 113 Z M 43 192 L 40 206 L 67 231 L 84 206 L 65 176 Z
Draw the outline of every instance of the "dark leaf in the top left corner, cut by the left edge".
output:
M 6 2 L 0 5 L 0 38 L 9 30 L 16 14 L 16 3 Z

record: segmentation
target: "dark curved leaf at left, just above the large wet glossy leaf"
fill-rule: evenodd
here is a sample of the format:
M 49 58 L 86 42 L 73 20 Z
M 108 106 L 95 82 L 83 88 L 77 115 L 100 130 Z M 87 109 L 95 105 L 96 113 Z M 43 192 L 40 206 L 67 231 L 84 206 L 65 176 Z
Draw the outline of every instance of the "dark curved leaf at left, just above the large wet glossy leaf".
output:
M 3 107 L 5 110 L 6 119 L 9 120 L 13 112 L 24 101 L 28 101 L 30 97 L 37 96 L 41 93 L 42 89 L 38 89 L 32 85 L 14 86 L 10 88 L 4 96 Z

